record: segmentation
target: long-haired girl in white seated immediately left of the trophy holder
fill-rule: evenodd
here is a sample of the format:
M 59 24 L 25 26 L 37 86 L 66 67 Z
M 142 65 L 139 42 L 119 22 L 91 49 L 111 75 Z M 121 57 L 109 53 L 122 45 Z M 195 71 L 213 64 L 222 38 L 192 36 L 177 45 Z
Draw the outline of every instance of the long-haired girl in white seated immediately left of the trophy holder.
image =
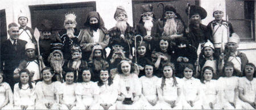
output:
M 117 83 L 113 83 L 113 79 L 107 69 L 100 71 L 100 81 L 97 84 L 100 87 L 100 99 L 98 102 L 100 105 L 98 109 L 115 109 L 118 87 Z

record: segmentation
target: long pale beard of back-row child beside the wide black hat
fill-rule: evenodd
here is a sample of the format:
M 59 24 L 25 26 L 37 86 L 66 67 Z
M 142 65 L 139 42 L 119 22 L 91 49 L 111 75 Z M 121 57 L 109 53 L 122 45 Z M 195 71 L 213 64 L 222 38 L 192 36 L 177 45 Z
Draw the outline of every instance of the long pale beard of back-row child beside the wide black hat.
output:
M 177 24 L 174 18 L 167 19 L 166 24 L 164 25 L 163 36 L 171 36 L 177 33 Z

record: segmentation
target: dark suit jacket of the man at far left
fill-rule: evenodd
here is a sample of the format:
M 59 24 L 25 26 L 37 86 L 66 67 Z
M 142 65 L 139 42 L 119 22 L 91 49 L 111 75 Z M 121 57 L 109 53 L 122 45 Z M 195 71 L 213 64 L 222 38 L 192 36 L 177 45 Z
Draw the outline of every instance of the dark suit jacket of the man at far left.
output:
M 1 44 L 1 69 L 3 70 L 3 62 L 5 62 L 5 70 L 14 70 L 19 63 L 26 58 L 25 45 L 27 41 L 17 39 L 16 50 L 7 39 Z

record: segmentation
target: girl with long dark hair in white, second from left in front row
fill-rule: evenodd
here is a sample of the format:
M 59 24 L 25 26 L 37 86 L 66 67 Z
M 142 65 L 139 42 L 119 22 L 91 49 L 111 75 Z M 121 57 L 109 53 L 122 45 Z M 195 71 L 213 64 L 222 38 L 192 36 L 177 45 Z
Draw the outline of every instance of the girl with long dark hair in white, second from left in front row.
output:
M 19 82 L 14 85 L 14 109 L 35 109 L 35 83 L 31 82 L 30 71 L 19 72 Z

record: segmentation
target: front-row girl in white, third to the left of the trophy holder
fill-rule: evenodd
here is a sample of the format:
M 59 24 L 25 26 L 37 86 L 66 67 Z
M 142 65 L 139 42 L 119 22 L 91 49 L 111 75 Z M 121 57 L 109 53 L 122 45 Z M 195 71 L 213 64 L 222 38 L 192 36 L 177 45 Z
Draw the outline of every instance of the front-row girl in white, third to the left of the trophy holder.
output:
M 74 71 L 73 68 L 69 68 L 65 71 L 65 83 L 61 83 L 60 109 L 76 109 L 76 83 L 74 83 Z

